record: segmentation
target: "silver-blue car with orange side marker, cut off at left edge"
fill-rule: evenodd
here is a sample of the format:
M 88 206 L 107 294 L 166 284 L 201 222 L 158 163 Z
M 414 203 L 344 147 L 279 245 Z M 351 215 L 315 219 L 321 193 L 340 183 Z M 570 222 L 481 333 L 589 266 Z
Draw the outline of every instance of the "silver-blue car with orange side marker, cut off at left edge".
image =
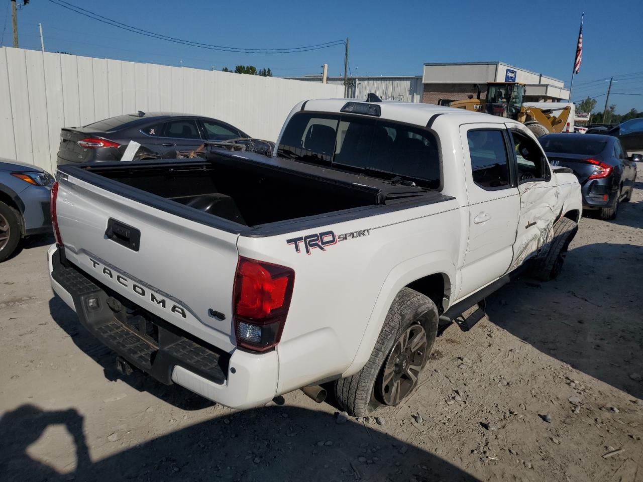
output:
M 54 179 L 30 164 L 0 158 L 0 262 L 22 238 L 51 233 L 50 195 Z

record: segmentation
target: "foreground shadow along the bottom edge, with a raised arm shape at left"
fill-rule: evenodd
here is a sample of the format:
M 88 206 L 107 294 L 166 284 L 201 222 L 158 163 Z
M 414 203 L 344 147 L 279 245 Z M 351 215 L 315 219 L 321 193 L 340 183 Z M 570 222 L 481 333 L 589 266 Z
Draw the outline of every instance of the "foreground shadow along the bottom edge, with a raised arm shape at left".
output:
M 28 454 L 46 427 L 71 434 L 77 464 L 60 474 Z M 116 432 L 114 450 L 131 443 Z M 0 419 L 4 482 L 23 481 L 476 481 L 467 472 L 387 434 L 327 413 L 264 407 L 233 413 L 92 461 L 77 411 L 24 405 Z M 321 444 L 320 444 L 321 443 Z

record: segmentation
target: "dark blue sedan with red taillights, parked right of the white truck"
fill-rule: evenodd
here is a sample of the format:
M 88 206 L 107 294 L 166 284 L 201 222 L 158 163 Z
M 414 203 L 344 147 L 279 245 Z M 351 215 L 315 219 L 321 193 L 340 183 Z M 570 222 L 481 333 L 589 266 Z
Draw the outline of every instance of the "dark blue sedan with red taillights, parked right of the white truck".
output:
M 574 171 L 581 183 L 583 209 L 615 219 L 619 202 L 629 201 L 637 177 L 638 154 L 627 156 L 619 139 L 601 134 L 547 134 L 538 138 L 552 166 Z

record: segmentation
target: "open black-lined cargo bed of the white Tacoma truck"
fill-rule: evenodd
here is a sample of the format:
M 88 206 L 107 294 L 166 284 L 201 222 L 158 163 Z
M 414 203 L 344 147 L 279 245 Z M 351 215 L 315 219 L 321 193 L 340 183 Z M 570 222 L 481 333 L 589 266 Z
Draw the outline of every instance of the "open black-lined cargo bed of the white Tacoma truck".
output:
M 447 199 L 289 159 L 210 152 L 208 159 L 60 166 L 110 192 L 167 212 L 246 235 L 273 235 Z M 379 208 L 379 209 L 378 209 Z M 374 213 L 369 211 L 375 210 Z

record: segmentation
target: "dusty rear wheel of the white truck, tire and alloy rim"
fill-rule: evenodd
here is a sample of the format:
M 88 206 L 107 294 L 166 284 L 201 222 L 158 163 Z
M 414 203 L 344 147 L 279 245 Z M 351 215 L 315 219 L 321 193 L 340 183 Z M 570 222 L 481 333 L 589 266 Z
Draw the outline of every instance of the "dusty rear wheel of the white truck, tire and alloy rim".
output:
M 433 348 L 438 310 L 428 296 L 403 288 L 388 310 L 373 352 L 355 375 L 337 380 L 335 395 L 352 416 L 395 406 L 417 386 Z

